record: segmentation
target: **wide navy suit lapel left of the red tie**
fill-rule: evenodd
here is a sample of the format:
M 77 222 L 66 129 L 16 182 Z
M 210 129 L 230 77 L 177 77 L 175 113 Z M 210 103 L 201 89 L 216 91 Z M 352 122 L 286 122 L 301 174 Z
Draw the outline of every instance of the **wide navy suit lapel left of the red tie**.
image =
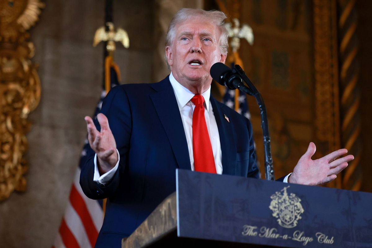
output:
M 169 77 L 153 84 L 152 87 L 157 92 L 151 94 L 150 97 L 167 134 L 178 167 L 191 170 L 185 131 Z

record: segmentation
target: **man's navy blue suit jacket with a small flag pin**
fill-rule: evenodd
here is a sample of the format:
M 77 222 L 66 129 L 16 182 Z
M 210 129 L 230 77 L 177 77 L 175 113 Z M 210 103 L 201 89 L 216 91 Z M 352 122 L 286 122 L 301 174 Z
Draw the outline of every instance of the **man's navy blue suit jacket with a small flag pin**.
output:
M 223 174 L 258 178 L 249 120 L 213 97 L 210 101 L 221 142 Z M 90 150 L 80 185 L 89 198 L 108 198 L 96 247 L 121 247 L 121 239 L 176 190 L 175 170 L 190 170 L 190 158 L 169 77 L 154 84 L 114 87 L 101 112 L 108 117 L 115 137 L 119 168 L 107 185 L 95 183 L 94 152 Z

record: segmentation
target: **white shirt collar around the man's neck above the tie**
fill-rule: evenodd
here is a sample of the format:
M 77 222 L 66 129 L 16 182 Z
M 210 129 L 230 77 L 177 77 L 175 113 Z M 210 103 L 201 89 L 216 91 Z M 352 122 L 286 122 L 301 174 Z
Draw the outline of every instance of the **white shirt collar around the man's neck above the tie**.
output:
M 173 77 L 172 73 L 170 73 L 169 75 L 169 81 L 173 87 L 174 94 L 176 95 L 178 107 L 181 110 L 188 102 L 190 102 L 195 94 L 192 93 L 188 88 L 178 83 L 176 78 Z M 202 96 L 204 97 L 207 111 L 209 111 L 209 97 L 211 96 L 211 86 L 209 86 L 208 89 L 202 93 Z

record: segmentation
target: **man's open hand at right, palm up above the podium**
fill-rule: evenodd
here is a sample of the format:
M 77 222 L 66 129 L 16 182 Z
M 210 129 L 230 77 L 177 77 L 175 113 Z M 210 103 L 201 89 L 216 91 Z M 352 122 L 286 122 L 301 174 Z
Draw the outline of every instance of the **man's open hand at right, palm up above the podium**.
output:
M 289 177 L 289 183 L 298 183 L 305 185 L 321 185 L 329 183 L 336 179 L 336 175 L 347 167 L 347 162 L 354 159 L 353 155 L 336 159 L 347 153 L 346 149 L 339 149 L 325 155 L 323 158 L 312 160 L 315 154 L 315 144 L 310 142 L 309 147 L 304 155 L 300 158 L 295 166 L 293 173 Z

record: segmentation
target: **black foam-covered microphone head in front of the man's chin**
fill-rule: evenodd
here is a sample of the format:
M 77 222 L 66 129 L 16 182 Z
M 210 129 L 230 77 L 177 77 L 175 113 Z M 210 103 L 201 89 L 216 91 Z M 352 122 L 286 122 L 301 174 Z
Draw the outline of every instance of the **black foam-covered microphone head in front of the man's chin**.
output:
M 209 73 L 217 83 L 226 86 L 230 90 L 240 89 L 240 87 L 244 86 L 240 75 L 234 73 L 227 65 L 221 62 L 212 65 Z

